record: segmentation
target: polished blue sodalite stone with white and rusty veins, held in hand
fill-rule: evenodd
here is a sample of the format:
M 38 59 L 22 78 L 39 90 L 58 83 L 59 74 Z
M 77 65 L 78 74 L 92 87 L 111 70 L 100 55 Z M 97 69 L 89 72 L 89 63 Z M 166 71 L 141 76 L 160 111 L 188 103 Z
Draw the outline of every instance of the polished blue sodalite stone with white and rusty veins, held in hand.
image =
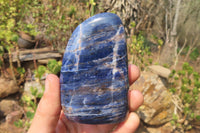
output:
M 117 15 L 97 14 L 75 29 L 64 53 L 60 84 L 61 105 L 69 120 L 105 124 L 125 119 L 127 51 Z

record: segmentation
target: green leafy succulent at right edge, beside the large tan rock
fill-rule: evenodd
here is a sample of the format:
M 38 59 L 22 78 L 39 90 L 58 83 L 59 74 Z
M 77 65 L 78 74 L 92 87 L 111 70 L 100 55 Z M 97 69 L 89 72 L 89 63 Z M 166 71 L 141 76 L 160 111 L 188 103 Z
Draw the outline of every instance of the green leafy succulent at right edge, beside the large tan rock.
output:
M 200 94 L 200 74 L 195 72 L 193 67 L 189 63 L 184 63 L 182 69 L 179 71 L 173 70 L 170 74 L 170 91 L 174 95 L 178 95 L 182 101 L 182 112 L 176 114 L 177 119 L 173 119 L 174 124 L 181 124 L 180 126 L 185 129 L 191 129 L 189 123 L 193 120 L 199 120 L 199 114 L 195 114 L 196 103 L 199 100 Z M 182 119 L 182 123 L 178 122 Z

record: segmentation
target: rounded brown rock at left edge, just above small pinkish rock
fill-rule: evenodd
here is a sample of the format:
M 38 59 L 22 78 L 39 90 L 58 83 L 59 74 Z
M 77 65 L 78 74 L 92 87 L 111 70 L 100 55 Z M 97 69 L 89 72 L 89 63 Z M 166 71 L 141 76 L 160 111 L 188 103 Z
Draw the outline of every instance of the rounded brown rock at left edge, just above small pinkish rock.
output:
M 13 99 L 3 99 L 0 102 L 0 112 L 3 113 L 4 116 L 10 114 L 13 111 L 19 111 L 21 107 L 18 102 Z

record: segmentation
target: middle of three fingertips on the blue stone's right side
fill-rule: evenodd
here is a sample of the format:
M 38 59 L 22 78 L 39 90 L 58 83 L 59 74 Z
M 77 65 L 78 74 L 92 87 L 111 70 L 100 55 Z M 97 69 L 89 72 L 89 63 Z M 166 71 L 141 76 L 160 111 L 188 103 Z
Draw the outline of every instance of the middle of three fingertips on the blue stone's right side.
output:
M 144 97 L 139 90 L 129 90 L 128 92 L 129 111 L 136 111 L 144 102 Z

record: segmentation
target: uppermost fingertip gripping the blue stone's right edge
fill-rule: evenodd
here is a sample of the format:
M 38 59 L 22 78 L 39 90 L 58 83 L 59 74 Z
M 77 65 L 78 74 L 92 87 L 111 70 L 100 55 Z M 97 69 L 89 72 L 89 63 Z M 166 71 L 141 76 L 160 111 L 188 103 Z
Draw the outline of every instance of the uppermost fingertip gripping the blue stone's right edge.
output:
M 128 65 L 128 77 L 129 77 L 129 84 L 133 84 L 140 76 L 140 70 L 137 66 L 130 64 Z

